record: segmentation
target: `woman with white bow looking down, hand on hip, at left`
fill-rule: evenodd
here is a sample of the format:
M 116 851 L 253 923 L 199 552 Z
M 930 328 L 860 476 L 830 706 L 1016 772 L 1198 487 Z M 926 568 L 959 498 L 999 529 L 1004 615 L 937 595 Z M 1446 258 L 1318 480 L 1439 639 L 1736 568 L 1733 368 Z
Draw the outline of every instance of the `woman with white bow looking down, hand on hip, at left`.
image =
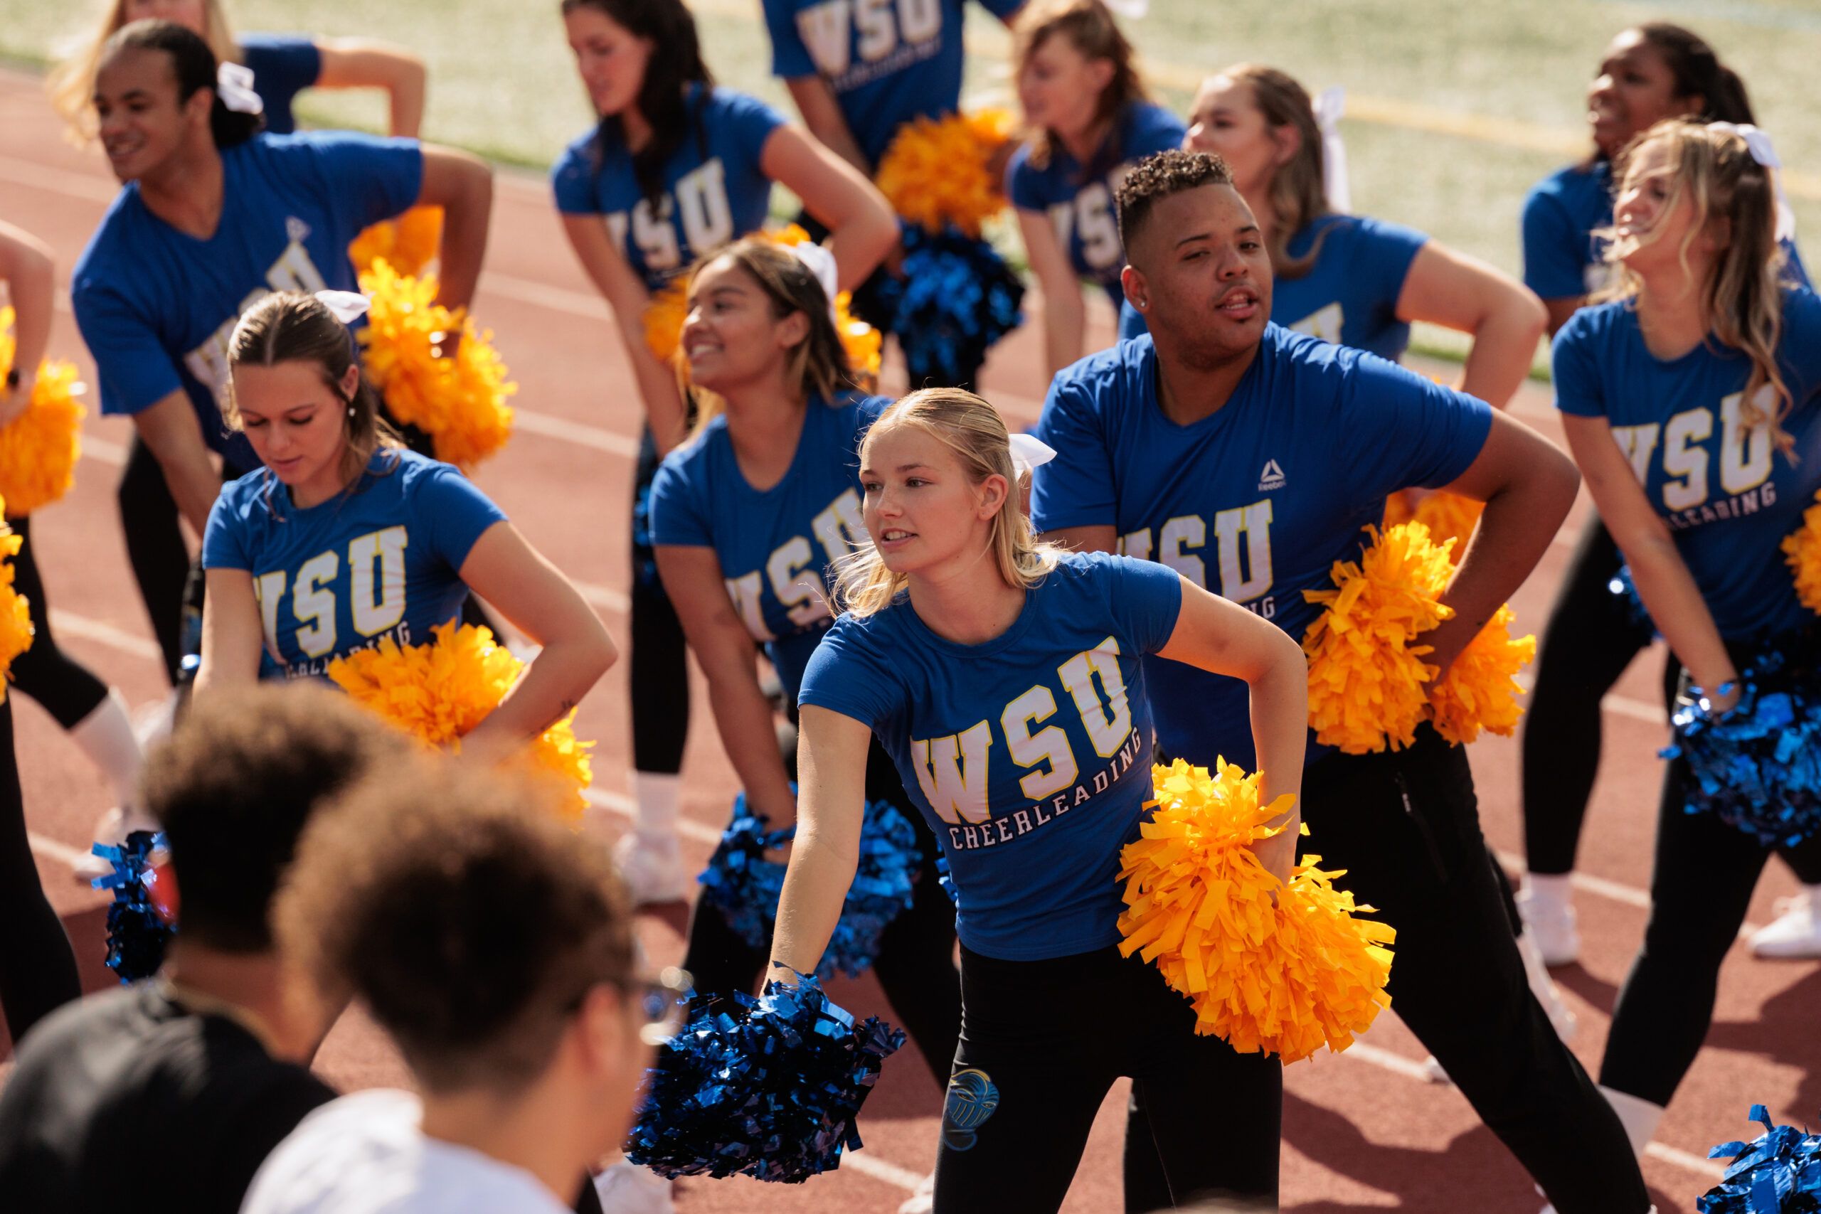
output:
M 504 752 L 581 703 L 614 661 L 601 621 L 461 471 L 401 448 L 328 304 L 268 295 L 226 359 L 222 419 L 264 468 L 209 511 L 197 695 L 422 644 L 473 590 L 543 648 L 463 754 Z

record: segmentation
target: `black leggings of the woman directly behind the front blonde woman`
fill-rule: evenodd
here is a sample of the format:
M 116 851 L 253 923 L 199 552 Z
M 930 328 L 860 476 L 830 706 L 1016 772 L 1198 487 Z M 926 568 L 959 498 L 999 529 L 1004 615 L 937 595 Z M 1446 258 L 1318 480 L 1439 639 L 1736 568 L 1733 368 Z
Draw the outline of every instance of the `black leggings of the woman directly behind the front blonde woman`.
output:
M 880 956 L 872 968 L 892 1003 L 898 1023 L 916 1041 L 938 1087 L 949 1083 L 954 1050 L 961 1034 L 961 977 L 954 968 L 954 903 L 936 872 L 940 845 L 910 804 L 890 755 L 872 743 L 867 755 L 867 799 L 890 801 L 916 826 L 923 863 L 912 886 L 910 906 L 880 937 Z M 768 941 L 767 941 L 768 943 Z M 765 972 L 770 950 L 759 950 L 734 934 L 727 916 L 703 899 L 688 925 L 690 972 L 699 992 L 754 990 Z

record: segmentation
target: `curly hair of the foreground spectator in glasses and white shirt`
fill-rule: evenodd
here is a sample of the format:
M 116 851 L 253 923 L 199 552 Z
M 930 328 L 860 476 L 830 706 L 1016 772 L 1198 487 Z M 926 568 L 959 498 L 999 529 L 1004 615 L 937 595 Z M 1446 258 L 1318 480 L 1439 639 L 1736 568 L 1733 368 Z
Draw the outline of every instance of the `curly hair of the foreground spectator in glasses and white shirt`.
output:
M 512 1094 L 597 985 L 632 977 L 606 855 L 539 777 L 448 759 L 371 781 L 311 823 L 279 939 L 319 990 L 359 996 L 430 1092 Z

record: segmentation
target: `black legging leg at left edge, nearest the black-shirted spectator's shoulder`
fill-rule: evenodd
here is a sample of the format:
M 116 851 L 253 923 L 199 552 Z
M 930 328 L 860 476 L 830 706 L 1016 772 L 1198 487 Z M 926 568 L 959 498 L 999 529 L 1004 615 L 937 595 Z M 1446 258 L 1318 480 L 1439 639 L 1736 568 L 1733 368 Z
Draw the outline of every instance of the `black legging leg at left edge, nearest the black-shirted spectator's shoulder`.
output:
M 0 1010 L 13 1047 L 40 1019 L 82 996 L 76 954 L 64 923 L 38 885 L 38 865 L 25 835 L 25 797 L 13 754 L 13 701 L 0 701 L 0 916 L 7 925 L 0 948 Z

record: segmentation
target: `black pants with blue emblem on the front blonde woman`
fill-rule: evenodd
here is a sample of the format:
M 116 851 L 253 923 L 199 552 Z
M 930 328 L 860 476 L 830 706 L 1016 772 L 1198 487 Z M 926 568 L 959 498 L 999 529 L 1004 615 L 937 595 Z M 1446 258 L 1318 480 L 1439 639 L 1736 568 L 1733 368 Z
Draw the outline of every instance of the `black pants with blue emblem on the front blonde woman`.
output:
M 1118 948 L 1000 961 L 961 948 L 961 1052 L 936 1154 L 936 1214 L 1062 1205 L 1113 1081 L 1144 1085 L 1151 1161 L 1182 1205 L 1275 1209 L 1284 1067 L 1195 1034 L 1195 1008 Z

